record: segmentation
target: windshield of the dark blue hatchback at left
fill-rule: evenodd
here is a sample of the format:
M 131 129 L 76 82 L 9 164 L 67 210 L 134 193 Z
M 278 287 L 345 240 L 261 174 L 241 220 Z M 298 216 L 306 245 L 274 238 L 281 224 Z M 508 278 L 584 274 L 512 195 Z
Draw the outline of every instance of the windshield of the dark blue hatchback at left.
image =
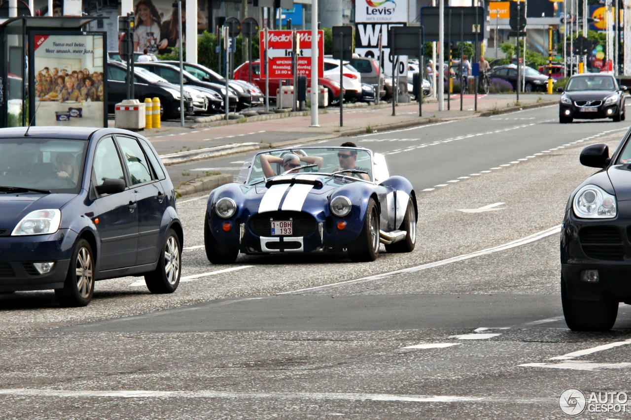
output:
M 68 139 L 0 139 L 0 193 L 6 192 L 6 187 L 77 193 L 86 143 Z

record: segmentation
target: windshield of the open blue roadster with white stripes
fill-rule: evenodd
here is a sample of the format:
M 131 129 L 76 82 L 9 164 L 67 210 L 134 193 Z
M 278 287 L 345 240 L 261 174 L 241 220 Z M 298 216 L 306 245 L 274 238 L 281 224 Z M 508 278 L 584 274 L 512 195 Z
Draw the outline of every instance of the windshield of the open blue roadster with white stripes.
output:
M 270 163 L 273 173 L 264 173 L 264 165 L 262 165 L 261 160 Z M 286 163 L 286 165 L 283 166 L 283 163 Z M 305 165 L 315 166 L 303 168 L 302 166 Z M 345 171 L 343 175 L 347 177 L 371 181 L 373 179 L 370 152 L 365 149 L 304 148 L 273 150 L 257 154 L 252 161 L 246 184 L 255 184 L 256 182 L 261 182 L 264 177 L 269 178 L 281 175 L 287 171 L 291 171 L 289 173 L 333 173 Z

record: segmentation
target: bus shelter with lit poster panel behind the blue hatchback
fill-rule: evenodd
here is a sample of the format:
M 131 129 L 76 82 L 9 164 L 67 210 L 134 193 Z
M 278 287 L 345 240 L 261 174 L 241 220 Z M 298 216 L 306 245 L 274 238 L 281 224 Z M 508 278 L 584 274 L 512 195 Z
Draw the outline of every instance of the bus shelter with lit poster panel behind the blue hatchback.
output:
M 0 24 L 0 127 L 107 127 L 107 34 L 83 30 L 95 19 L 19 16 Z

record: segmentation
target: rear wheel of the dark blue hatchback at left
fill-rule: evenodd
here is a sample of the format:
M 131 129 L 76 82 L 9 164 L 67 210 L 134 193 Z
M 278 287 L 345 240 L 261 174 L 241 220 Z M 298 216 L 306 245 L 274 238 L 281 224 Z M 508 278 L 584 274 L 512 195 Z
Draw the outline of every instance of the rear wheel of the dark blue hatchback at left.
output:
M 158 266 L 144 275 L 144 283 L 151 293 L 173 293 L 180 284 L 182 248 L 174 230 L 169 229 L 160 250 Z

